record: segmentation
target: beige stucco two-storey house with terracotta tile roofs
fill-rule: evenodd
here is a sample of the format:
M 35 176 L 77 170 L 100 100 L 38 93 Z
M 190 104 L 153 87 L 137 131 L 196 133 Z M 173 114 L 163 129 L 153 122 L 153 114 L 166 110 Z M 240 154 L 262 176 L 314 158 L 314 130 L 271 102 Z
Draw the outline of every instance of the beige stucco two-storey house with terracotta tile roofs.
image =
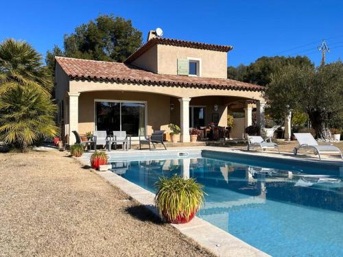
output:
M 227 114 L 244 113 L 243 128 L 264 124 L 261 86 L 227 79 L 227 53 L 233 47 L 157 38 L 125 62 L 56 57 L 56 100 L 62 136 L 72 131 L 125 130 L 133 139 L 180 125 L 180 142 L 189 127 L 226 126 Z M 242 134 L 242 133 L 241 133 Z

